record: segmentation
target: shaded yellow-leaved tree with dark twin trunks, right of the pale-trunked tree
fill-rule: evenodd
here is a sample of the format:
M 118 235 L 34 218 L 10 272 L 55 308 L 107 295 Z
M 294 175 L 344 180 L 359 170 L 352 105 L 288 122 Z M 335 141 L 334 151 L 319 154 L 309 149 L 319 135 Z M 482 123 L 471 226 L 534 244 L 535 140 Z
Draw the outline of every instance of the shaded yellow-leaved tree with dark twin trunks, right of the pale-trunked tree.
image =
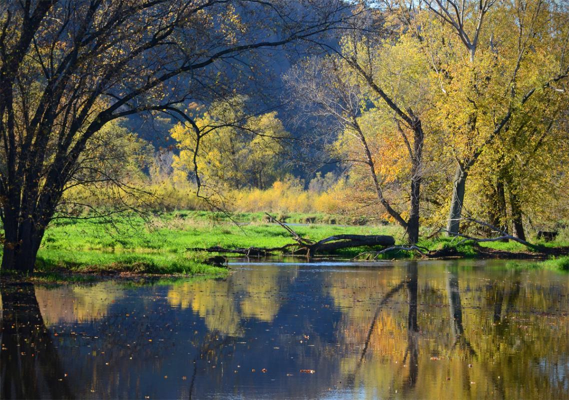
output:
M 525 112 L 512 118 L 500 140 L 481 154 L 472 168 L 469 186 L 473 193 L 490 195 L 465 201 L 467 209 L 478 214 L 476 218 L 488 218 L 502 230 L 511 226 L 512 234 L 523 240 L 525 223 L 532 221 L 542 229 L 563 219 L 567 213 L 563 179 L 569 172 L 569 136 L 562 109 L 567 107 L 567 93 L 538 93 Z M 502 193 L 497 195 L 500 187 Z M 496 200 L 502 203 L 500 213 L 493 206 Z

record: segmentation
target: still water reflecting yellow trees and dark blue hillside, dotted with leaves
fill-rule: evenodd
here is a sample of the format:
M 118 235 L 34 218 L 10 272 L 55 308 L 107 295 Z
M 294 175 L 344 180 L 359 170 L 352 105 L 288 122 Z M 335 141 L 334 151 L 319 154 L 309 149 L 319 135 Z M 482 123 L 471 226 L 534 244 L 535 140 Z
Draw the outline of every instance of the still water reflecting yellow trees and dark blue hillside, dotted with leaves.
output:
M 233 263 L 2 287 L 2 397 L 569 398 L 569 275 L 504 261 Z

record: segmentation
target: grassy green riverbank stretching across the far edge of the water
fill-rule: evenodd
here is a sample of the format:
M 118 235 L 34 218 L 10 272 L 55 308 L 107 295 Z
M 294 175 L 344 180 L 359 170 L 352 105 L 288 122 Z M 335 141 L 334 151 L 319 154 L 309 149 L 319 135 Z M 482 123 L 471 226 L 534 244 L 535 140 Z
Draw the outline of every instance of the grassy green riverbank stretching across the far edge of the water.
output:
M 402 244 L 404 239 L 401 228 L 392 225 L 347 226 L 302 222 L 338 221 L 339 218 L 331 215 L 294 214 L 283 217 L 289 223 L 298 221 L 296 223 L 300 225 L 294 225 L 294 230 L 312 240 L 340 234 L 391 235 L 396 244 Z M 89 280 L 109 275 L 223 277 L 228 274 L 226 268 L 208 263 L 208 259 L 216 254 L 187 249 L 212 246 L 273 248 L 291 242 L 290 234 L 281 226 L 267 222 L 262 213 L 236 214 L 232 221 L 222 214 L 177 211 L 149 221 L 139 217 L 122 219 L 113 225 L 96 219 L 58 219 L 44 236 L 35 272 L 48 280 Z M 537 247 L 529 249 L 515 242 L 476 244 L 439 236 L 422 239 L 419 247 L 437 258 L 545 260 L 551 256 L 569 254 L 569 243 L 563 239 L 536 244 Z M 336 256 L 351 259 L 369 250 L 365 247 L 348 248 L 337 251 Z M 374 257 L 401 259 L 420 255 L 414 251 L 392 250 Z

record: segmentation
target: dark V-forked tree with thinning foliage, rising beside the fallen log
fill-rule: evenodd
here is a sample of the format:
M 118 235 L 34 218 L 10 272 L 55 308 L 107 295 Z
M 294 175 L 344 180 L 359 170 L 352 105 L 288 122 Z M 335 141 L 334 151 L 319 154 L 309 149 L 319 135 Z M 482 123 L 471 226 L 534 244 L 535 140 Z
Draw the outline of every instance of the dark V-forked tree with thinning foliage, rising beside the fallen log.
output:
M 336 154 L 353 175 L 365 177 L 367 187 L 372 184 L 374 197 L 406 230 L 410 243 L 419 239 L 424 145 L 420 116 L 429 91 L 416 54 L 409 37 L 397 44 L 345 38 L 342 52 L 304 63 L 287 78 L 306 102 L 305 112 L 335 121 Z M 387 167 L 397 158 L 394 149 L 404 160 L 399 170 Z M 392 172 L 400 176 L 394 178 Z M 403 189 L 403 201 L 399 199 L 409 199 L 405 212 L 395 209 L 397 195 L 387 195 L 399 180 L 410 183 L 408 191 Z

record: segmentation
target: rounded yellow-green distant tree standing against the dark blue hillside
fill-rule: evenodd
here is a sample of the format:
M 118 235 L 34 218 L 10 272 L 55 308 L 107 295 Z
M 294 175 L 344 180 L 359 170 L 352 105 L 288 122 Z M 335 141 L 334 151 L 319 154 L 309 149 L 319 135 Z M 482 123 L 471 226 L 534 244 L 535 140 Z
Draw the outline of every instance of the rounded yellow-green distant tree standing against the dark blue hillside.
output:
M 279 161 L 290 135 L 277 112 L 249 116 L 246 99 L 237 97 L 214 103 L 191 124 L 179 123 L 171 129 L 180 153 L 174 156 L 174 173 L 185 181 L 197 177 L 213 191 L 257 187 L 266 189 L 283 177 Z M 197 111 L 199 113 L 199 111 Z M 200 145 L 197 146 L 199 132 Z M 282 167 L 282 165 L 281 165 Z

